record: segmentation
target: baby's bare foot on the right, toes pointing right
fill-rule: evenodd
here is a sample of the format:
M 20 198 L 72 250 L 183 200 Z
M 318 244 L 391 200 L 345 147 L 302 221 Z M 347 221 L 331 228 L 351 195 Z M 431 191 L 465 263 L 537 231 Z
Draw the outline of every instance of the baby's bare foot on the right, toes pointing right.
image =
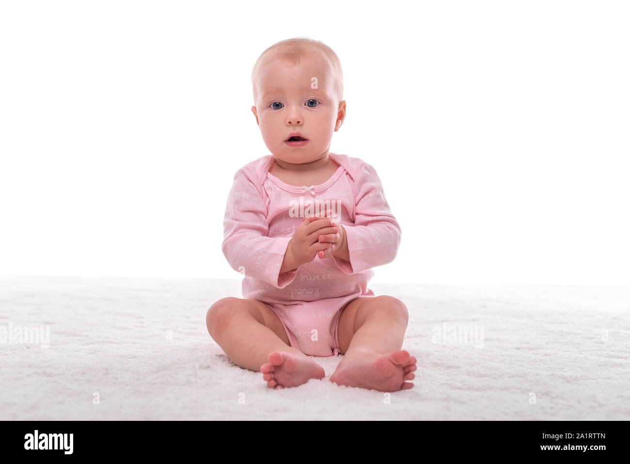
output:
M 352 358 L 343 360 L 330 381 L 338 385 L 358 386 L 379 391 L 398 391 L 412 388 L 416 358 L 409 352 L 392 351 L 387 354 L 368 351 L 353 352 Z

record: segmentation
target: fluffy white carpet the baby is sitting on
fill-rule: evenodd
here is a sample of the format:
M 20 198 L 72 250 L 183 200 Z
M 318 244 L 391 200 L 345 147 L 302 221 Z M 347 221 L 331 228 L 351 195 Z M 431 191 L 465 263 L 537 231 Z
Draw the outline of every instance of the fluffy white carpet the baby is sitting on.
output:
M 630 419 L 630 287 L 369 287 L 410 310 L 415 386 L 389 402 L 330 383 L 341 357 L 284 390 L 233 364 L 205 314 L 238 279 L 0 277 L 0 420 Z M 444 323 L 483 347 L 433 343 Z M 49 327 L 50 347 L 9 325 Z

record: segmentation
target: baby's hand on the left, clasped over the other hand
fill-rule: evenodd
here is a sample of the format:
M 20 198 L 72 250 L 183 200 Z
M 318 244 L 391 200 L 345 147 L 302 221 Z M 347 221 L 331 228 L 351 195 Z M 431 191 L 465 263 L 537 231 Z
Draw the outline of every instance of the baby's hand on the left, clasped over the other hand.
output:
M 326 213 L 329 211 L 327 210 Z M 331 219 L 323 217 L 321 213 L 304 217 L 304 221 L 295 228 L 293 237 L 289 241 L 292 257 L 299 265 L 311 262 L 318 253 L 335 246 L 331 240 L 320 241 L 319 238 L 334 237 L 339 229 Z

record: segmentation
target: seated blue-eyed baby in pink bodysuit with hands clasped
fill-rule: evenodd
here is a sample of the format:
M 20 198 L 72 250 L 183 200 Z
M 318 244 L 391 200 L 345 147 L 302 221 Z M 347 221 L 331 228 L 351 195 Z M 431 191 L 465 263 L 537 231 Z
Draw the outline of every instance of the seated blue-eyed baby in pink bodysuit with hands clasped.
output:
M 309 356 L 338 354 L 338 385 L 413 387 L 416 358 L 401 350 L 407 308 L 367 288 L 370 268 L 396 257 L 400 226 L 374 168 L 328 151 L 346 115 L 337 55 L 309 38 L 283 40 L 258 57 L 251 79 L 272 154 L 234 176 L 222 250 L 245 275 L 245 298 L 210 306 L 210 336 L 269 388 L 322 379 Z

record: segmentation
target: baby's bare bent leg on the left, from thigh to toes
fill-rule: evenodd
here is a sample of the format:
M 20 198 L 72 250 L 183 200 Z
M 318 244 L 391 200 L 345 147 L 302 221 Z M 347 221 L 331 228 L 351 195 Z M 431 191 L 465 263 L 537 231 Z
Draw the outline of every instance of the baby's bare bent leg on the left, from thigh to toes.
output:
M 261 301 L 222 298 L 210 306 L 206 325 L 234 364 L 262 372 L 270 388 L 297 386 L 325 375 L 317 362 L 289 345 L 282 322 Z

